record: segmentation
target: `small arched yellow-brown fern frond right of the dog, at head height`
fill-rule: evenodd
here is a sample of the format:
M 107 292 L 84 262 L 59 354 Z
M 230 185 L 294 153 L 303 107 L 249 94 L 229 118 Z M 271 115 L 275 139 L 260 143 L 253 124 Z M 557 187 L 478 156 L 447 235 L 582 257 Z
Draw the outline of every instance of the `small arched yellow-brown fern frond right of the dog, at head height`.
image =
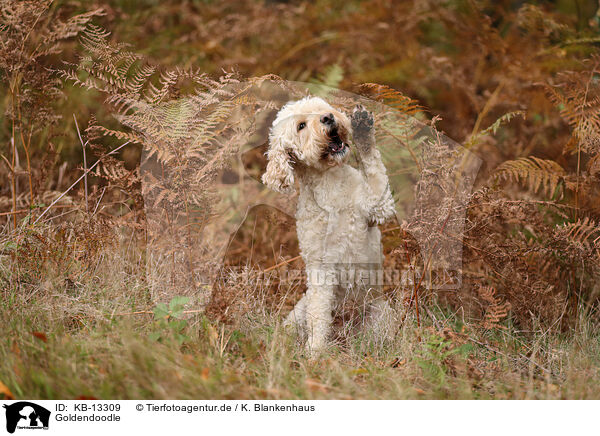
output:
M 531 156 L 504 162 L 492 177 L 521 183 L 535 193 L 541 190 L 552 196 L 564 176 L 565 171 L 556 162 Z

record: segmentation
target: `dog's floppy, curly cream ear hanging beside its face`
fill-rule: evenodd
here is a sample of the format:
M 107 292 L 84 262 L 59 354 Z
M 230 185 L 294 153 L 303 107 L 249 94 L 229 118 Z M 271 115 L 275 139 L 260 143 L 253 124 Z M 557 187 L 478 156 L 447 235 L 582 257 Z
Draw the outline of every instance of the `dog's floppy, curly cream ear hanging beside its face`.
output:
M 269 138 L 267 170 L 262 176 L 265 185 L 282 194 L 294 192 L 294 169 L 290 163 L 289 150 L 281 137 Z

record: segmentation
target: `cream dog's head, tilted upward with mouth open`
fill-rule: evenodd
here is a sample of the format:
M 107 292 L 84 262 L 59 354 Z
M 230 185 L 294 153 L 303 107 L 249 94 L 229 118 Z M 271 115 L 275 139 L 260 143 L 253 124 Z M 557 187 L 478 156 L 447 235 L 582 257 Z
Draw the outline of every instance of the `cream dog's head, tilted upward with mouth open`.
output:
M 269 133 L 263 183 L 278 192 L 294 189 L 294 166 L 319 171 L 341 165 L 349 151 L 350 121 L 318 97 L 291 101 L 281 108 Z

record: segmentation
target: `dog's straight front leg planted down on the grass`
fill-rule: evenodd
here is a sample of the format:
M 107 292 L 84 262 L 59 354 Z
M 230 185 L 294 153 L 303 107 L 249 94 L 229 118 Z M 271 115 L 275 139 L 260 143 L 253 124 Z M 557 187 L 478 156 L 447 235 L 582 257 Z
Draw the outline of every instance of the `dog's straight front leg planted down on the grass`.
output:
M 306 326 L 308 340 L 306 349 L 313 356 L 327 346 L 327 338 L 333 322 L 332 309 L 335 295 L 333 272 L 312 269 L 308 274 L 306 291 Z

